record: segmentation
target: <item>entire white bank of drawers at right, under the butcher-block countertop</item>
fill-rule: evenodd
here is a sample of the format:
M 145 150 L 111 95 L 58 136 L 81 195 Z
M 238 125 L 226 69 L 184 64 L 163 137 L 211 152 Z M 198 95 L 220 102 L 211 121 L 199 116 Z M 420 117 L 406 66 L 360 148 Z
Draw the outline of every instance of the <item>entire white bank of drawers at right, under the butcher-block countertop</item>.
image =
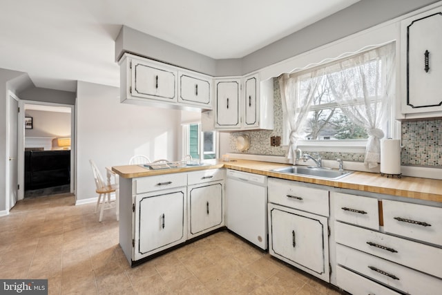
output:
M 330 193 L 338 287 L 352 294 L 440 293 L 442 209 L 405 201 Z

